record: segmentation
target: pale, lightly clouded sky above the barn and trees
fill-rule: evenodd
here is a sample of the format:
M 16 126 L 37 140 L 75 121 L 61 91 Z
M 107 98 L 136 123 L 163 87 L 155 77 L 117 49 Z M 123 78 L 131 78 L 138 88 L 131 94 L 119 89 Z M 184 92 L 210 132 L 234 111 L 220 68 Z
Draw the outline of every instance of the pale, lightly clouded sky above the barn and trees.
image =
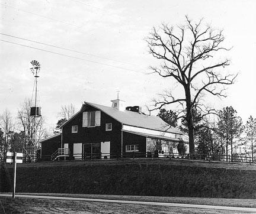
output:
M 24 99 L 31 99 L 31 60 L 41 64 L 40 103 L 49 127 L 62 105 L 73 103 L 77 111 L 84 101 L 110 106 L 117 90 L 127 106 L 150 105 L 174 82 L 148 74 L 158 61 L 145 38 L 152 27 L 184 24 L 188 15 L 223 30 L 232 47 L 220 56 L 231 60 L 225 72 L 238 73 L 227 98 L 207 102 L 216 109 L 232 105 L 245 122 L 256 117 L 255 11 L 254 0 L 0 0 L 0 114 L 8 109 L 15 118 Z

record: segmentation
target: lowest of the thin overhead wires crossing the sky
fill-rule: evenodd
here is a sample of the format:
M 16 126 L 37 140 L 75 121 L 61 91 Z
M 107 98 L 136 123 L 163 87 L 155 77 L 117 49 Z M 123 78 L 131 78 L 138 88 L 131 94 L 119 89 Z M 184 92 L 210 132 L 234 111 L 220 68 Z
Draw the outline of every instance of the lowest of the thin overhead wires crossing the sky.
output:
M 73 56 L 70 56 L 70 55 L 61 54 L 61 53 L 57 53 L 57 52 L 54 52 L 54 51 L 44 50 L 44 49 L 41 49 L 41 48 L 36 48 L 36 47 L 31 47 L 31 46 L 25 46 L 24 44 L 13 43 L 13 42 L 11 42 L 11 41 L 1 40 L 1 39 L 0 39 L 0 41 L 4 41 L 5 43 L 16 44 L 16 45 L 18 45 L 18 46 L 33 48 L 33 49 L 36 49 L 36 50 L 40 50 L 40 51 L 44 51 L 44 52 L 48 52 L 48 53 L 57 54 L 57 55 L 60 55 L 60 56 L 70 57 L 70 58 L 73 58 L 73 59 L 78 59 L 78 60 L 83 60 L 83 61 L 89 61 L 89 62 L 91 62 L 91 63 L 102 64 L 102 65 L 104 65 L 104 66 L 116 67 L 117 69 L 129 70 L 130 72 L 143 73 L 143 72 L 139 72 L 139 71 L 137 71 L 137 70 L 126 69 L 126 68 L 124 68 L 124 67 L 113 66 L 113 65 L 111 65 L 111 64 L 106 64 L 106 63 L 100 63 L 100 62 L 98 62 L 98 61 L 92 61 L 92 60 L 82 59 L 82 58 L 79 58 L 79 57 L 73 57 Z

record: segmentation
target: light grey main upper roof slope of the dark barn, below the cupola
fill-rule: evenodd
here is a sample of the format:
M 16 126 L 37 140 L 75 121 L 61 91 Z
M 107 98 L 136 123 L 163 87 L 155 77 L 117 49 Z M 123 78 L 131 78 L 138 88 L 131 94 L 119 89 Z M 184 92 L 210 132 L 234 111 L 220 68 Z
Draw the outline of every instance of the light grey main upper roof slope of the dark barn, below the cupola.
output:
M 105 114 L 111 116 L 117 121 L 125 125 L 133 127 L 147 128 L 164 132 L 171 132 L 175 134 L 183 134 L 178 128 L 170 127 L 158 116 L 139 114 L 138 112 L 132 111 L 119 111 L 118 109 L 111 108 L 104 105 L 98 105 L 95 103 L 84 102 L 87 105 L 91 105 L 103 111 Z

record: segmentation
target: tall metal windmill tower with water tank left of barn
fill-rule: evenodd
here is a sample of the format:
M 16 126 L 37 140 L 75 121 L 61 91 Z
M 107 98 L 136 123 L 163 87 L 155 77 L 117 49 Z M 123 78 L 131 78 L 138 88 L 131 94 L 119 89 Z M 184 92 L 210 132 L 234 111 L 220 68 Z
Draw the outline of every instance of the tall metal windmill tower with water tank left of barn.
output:
M 40 72 L 40 63 L 36 60 L 30 62 L 32 64 L 31 72 L 34 75 L 34 87 L 31 98 L 31 107 L 30 107 L 30 124 L 28 140 L 23 147 L 23 153 L 25 154 L 25 161 L 36 161 L 40 157 L 40 132 L 42 125 L 41 118 L 41 105 L 39 99 L 39 90 L 38 90 L 38 78 Z

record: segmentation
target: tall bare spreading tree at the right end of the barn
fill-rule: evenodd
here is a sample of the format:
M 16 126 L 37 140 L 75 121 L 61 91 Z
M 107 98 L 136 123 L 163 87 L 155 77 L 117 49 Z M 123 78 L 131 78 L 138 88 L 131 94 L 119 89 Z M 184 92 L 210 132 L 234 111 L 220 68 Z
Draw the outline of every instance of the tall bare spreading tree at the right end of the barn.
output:
M 187 16 L 185 25 L 178 27 L 162 24 L 158 30 L 153 28 L 146 38 L 149 53 L 161 60 L 160 67 L 153 67 L 153 73 L 174 80 L 183 97 L 175 98 L 171 91 L 154 100 L 155 109 L 165 105 L 179 104 L 184 106 L 183 114 L 188 125 L 189 152 L 194 154 L 194 125 L 191 110 L 194 106 L 209 114 L 213 109 L 203 108 L 201 99 L 206 93 L 225 97 L 225 86 L 234 83 L 237 75 L 222 74 L 221 68 L 229 65 L 229 60 L 213 61 L 217 51 L 229 50 L 222 47 L 224 37 L 222 30 L 214 30 L 203 24 L 203 19 L 193 22 Z M 219 59 L 219 57 L 217 58 Z M 218 69 L 219 68 L 219 69 Z

